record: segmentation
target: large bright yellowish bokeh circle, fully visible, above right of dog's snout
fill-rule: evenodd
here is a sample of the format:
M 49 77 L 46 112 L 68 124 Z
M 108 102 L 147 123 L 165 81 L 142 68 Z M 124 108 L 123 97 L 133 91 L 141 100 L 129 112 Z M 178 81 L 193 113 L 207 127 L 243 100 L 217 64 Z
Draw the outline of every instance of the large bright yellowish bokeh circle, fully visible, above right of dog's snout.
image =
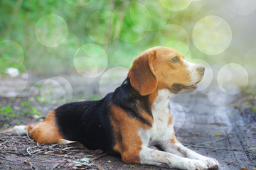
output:
M 232 30 L 223 18 L 206 16 L 193 28 L 193 42 L 201 52 L 218 55 L 225 51 L 232 40 Z

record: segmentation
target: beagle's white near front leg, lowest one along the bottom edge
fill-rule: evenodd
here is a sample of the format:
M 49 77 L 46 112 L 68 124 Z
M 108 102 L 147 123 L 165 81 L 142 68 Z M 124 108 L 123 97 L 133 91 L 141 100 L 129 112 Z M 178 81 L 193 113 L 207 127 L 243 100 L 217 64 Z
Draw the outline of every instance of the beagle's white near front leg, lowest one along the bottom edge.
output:
M 187 170 L 208 169 L 208 166 L 200 160 L 178 157 L 169 152 L 163 152 L 145 146 L 142 146 L 139 152 L 139 159 L 141 164 L 151 164 L 168 168 Z

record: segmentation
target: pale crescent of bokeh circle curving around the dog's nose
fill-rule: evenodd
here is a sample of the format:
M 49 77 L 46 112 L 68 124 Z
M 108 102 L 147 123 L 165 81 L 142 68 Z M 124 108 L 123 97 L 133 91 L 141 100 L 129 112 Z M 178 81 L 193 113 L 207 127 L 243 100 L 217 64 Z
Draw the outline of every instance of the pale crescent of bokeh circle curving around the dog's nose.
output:
M 191 62 L 200 64 L 206 68 L 203 79 L 198 84 L 198 88 L 197 88 L 198 91 L 202 91 L 202 90 L 206 89 L 210 85 L 211 81 L 213 80 L 213 69 L 212 69 L 212 67 L 210 67 L 210 64 L 208 64 L 206 61 L 201 60 L 201 59 L 193 59 L 193 60 L 191 60 Z

